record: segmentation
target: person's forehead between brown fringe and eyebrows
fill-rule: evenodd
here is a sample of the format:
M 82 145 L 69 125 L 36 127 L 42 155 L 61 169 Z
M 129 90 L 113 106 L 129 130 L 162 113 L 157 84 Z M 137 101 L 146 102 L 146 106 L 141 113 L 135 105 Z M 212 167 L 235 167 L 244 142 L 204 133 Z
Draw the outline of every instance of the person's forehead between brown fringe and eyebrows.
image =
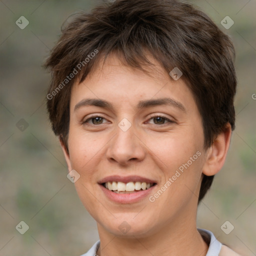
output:
M 125 102 L 140 107 L 143 105 L 141 100 L 171 98 L 181 109 L 196 107 L 184 80 L 173 80 L 158 62 L 150 61 L 154 65 L 143 66 L 145 71 L 142 71 L 123 64 L 116 55 L 109 56 L 104 62 L 101 60 L 81 83 L 73 85 L 71 108 L 86 98 L 104 99 L 111 102 L 111 107 L 123 106 Z

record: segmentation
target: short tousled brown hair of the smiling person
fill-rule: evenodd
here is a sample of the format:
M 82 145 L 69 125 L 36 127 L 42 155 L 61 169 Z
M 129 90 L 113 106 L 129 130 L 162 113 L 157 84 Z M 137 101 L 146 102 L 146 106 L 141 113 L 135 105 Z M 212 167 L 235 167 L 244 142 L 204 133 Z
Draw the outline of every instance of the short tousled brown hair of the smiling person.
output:
M 178 67 L 202 116 L 205 148 L 227 123 L 234 129 L 233 44 L 191 4 L 178 0 L 101 3 L 90 13 L 75 14 L 61 31 L 45 67 L 52 74 L 47 92 L 49 119 L 66 147 L 71 86 L 74 81 L 83 81 L 110 53 L 143 71 L 144 65 L 152 64 L 148 52 L 167 72 Z M 77 69 L 79 73 L 71 79 L 74 75 L 70 74 L 76 74 Z M 203 174 L 198 201 L 212 180 L 213 176 Z

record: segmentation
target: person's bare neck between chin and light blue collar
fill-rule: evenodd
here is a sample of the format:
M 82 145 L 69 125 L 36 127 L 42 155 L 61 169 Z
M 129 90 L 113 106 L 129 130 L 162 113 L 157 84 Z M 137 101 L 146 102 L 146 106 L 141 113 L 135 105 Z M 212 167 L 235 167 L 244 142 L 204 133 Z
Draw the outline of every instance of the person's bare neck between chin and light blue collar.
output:
M 185 214 L 184 214 L 185 215 Z M 191 217 L 194 221 L 191 221 Z M 175 221 L 164 223 L 157 232 L 139 237 L 117 236 L 106 231 L 98 224 L 100 247 L 99 256 L 205 256 L 208 245 L 196 229 L 195 214 L 179 216 Z

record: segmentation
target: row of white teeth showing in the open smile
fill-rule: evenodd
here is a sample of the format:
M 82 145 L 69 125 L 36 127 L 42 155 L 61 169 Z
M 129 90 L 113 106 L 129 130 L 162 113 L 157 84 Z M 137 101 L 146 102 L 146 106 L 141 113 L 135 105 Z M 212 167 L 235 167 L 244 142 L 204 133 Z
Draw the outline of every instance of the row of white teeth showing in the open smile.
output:
M 150 188 L 153 185 L 153 183 L 146 183 L 146 182 L 128 182 L 128 183 L 124 183 L 124 182 L 116 182 L 116 181 L 108 181 L 105 183 L 105 188 L 107 188 L 108 190 L 113 190 L 116 193 L 125 193 L 127 192 L 132 192 L 134 190 L 145 190 Z

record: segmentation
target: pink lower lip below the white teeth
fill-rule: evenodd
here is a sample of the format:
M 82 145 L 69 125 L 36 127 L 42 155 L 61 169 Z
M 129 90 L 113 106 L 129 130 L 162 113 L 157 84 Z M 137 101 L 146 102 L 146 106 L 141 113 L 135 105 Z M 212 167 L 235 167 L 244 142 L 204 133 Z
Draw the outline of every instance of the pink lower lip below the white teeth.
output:
M 145 197 L 148 197 L 148 194 L 152 191 L 152 189 L 155 187 L 155 185 L 151 186 L 148 189 L 145 190 L 139 190 L 138 192 L 133 192 L 133 193 L 115 193 L 111 190 L 108 190 L 102 185 L 99 185 L 106 195 L 106 197 L 114 202 L 117 203 L 133 203 L 133 202 L 138 202 L 142 200 Z

